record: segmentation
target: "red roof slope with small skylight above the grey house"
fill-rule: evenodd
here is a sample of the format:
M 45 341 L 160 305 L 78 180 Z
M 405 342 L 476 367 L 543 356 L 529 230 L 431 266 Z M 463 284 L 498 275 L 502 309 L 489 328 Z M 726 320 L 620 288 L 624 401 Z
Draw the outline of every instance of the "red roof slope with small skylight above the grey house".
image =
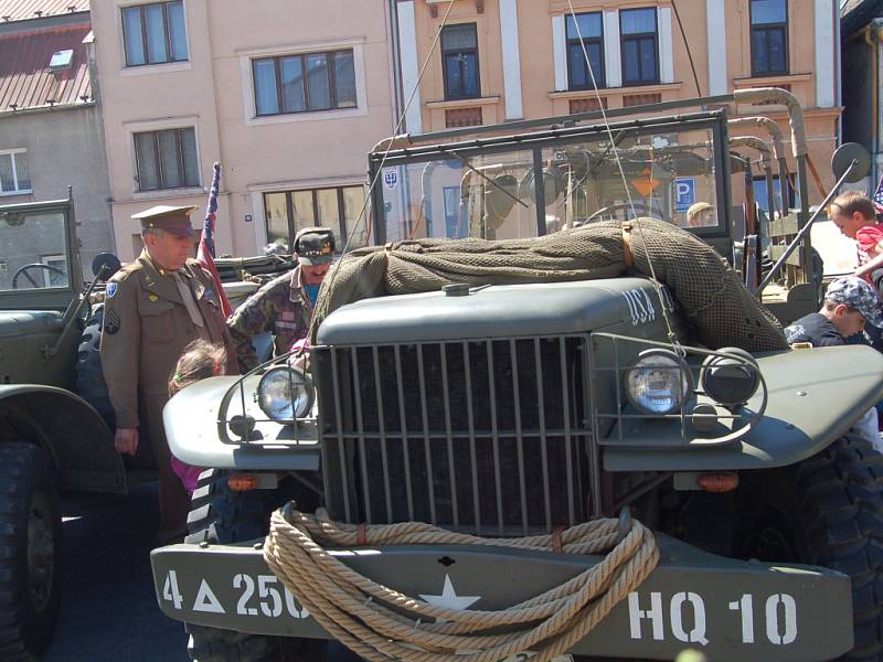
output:
M 0 113 L 83 104 L 92 98 L 86 46 L 88 24 L 0 35 Z M 71 68 L 52 73 L 56 51 L 73 50 Z M 52 102 L 52 103 L 50 103 Z

